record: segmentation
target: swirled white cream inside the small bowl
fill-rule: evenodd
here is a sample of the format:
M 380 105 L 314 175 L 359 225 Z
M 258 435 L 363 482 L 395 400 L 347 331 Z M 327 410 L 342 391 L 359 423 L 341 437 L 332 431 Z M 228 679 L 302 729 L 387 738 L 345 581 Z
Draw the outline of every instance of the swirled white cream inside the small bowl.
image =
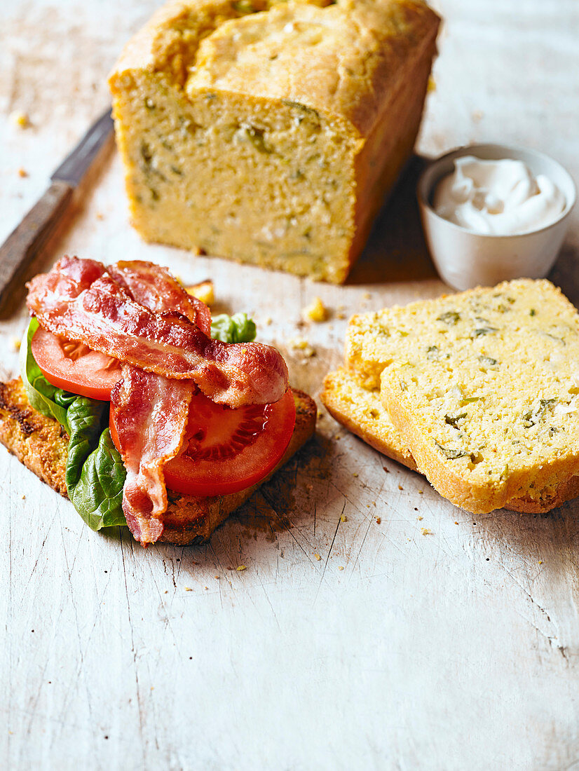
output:
M 456 158 L 454 171 L 439 182 L 434 209 L 473 233 L 513 235 L 551 224 L 565 197 L 544 174 L 535 178 L 520 160 Z

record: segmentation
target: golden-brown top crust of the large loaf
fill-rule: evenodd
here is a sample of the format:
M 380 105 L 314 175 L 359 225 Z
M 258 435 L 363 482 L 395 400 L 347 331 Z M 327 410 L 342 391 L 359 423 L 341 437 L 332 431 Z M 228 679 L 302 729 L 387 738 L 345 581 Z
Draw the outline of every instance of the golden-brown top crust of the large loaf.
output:
M 227 22 L 235 23 L 236 32 L 254 25 L 254 12 L 243 9 L 250 7 L 267 12 L 258 22 L 265 18 L 268 24 L 270 17 L 274 24 L 297 9 L 304 23 L 326 28 L 332 45 L 322 45 L 318 52 L 319 40 L 304 41 L 295 49 L 280 49 L 272 41 L 271 57 L 258 62 L 251 54 L 243 56 L 233 29 L 225 42 L 218 33 L 213 45 L 210 35 L 222 25 L 227 29 Z M 432 57 L 439 23 L 439 16 L 423 0 L 170 0 L 127 43 L 111 85 L 115 89 L 123 75 L 148 69 L 164 72 L 182 87 L 194 65 L 194 79 L 202 79 L 208 89 L 291 98 L 346 120 L 360 136 L 369 136 L 385 105 L 408 78 L 412 63 L 425 49 L 431 49 Z M 198 57 L 200 49 L 204 50 Z

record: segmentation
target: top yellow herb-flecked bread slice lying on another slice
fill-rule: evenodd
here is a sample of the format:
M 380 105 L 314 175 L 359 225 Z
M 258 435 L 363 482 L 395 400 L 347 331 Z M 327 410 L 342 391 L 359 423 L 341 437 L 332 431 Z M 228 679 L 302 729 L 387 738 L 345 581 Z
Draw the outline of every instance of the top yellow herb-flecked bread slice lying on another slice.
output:
M 530 279 L 357 316 L 346 340 L 419 468 L 475 513 L 579 473 L 578 357 L 574 306 Z

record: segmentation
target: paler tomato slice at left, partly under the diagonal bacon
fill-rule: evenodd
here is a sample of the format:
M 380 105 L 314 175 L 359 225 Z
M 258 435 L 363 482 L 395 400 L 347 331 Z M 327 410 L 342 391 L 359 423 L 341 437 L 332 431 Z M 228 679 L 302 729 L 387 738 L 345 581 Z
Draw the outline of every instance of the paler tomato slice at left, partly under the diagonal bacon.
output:
M 108 401 L 113 385 L 121 379 L 120 361 L 69 342 L 39 327 L 31 343 L 32 355 L 42 375 L 57 388 Z

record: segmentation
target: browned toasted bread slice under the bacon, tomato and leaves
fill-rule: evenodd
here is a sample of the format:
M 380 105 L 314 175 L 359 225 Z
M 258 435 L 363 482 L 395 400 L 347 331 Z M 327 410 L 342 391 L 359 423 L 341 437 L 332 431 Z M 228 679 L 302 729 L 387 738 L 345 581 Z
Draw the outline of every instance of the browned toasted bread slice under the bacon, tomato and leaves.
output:
M 229 515 L 297 453 L 315 431 L 316 406 L 302 391 L 293 391 L 296 409 L 294 434 L 275 469 L 261 482 L 231 495 L 197 498 L 168 491 L 169 507 L 160 538 L 170 544 L 198 544 L 207 540 Z M 29 404 L 20 378 L 0 383 L 0 442 L 36 476 L 63 497 L 69 437 L 56 420 Z

